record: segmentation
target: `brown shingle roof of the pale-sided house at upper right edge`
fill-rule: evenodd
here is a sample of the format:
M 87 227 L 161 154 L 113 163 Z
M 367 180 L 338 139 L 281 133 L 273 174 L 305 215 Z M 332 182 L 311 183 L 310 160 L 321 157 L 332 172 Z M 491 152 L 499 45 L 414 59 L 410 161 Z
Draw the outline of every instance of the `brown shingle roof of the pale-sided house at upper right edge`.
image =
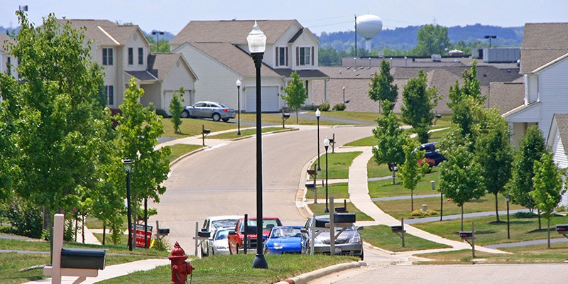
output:
M 525 23 L 521 73 L 530 73 L 567 53 L 568 23 Z

